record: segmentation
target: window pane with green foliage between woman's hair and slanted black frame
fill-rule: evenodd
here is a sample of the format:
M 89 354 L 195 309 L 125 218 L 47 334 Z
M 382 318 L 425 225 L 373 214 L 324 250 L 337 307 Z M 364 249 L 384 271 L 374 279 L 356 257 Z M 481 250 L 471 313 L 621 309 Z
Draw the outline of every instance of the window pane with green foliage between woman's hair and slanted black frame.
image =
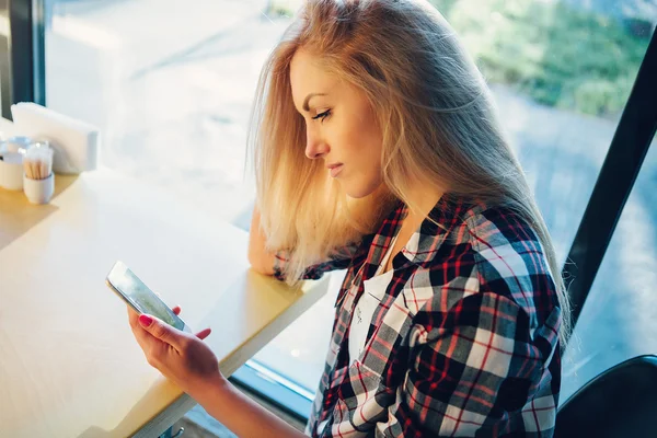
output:
M 502 124 L 564 262 L 657 23 L 657 5 L 433 3 L 491 84 Z

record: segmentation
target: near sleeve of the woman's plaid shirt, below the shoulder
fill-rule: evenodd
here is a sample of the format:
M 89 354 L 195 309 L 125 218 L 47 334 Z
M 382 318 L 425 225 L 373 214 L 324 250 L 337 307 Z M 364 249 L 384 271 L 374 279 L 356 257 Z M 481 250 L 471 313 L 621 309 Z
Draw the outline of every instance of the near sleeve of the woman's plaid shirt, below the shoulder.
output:
M 408 371 L 377 436 L 493 437 L 522 430 L 523 406 L 535 396 L 544 356 L 553 350 L 532 345 L 527 313 L 509 298 L 477 292 L 447 311 L 428 306 L 415 320 Z M 545 399 L 529 415 L 553 415 L 556 402 Z

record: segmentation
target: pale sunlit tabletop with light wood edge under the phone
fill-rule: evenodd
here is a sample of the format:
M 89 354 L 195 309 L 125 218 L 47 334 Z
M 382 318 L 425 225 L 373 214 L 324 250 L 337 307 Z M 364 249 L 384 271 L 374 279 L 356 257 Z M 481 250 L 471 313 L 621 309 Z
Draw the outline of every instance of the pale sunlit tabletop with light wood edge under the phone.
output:
M 219 199 L 217 201 L 220 201 Z M 231 374 L 326 291 L 252 272 L 247 233 L 110 170 L 56 175 L 48 205 L 0 188 L 0 428 L 157 437 L 195 403 L 151 368 L 105 285 L 124 261 Z

